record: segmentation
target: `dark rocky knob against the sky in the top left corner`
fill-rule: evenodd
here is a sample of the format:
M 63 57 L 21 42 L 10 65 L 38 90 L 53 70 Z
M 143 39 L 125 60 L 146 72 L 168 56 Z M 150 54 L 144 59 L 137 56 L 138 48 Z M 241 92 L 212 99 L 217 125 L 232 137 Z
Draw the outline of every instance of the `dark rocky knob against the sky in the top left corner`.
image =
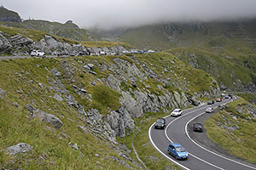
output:
M 20 23 L 20 15 L 14 11 L 11 11 L 3 6 L 0 7 L 0 22 L 16 22 Z

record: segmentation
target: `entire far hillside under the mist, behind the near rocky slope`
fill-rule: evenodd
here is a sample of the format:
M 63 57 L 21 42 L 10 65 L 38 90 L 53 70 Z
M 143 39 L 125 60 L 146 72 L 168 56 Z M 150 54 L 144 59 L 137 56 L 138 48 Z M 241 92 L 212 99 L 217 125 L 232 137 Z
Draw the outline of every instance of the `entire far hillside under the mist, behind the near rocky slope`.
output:
M 102 31 L 102 37 L 143 48 L 167 48 L 186 64 L 207 71 L 222 89 L 251 94 L 256 84 L 255 30 L 256 20 L 166 23 Z

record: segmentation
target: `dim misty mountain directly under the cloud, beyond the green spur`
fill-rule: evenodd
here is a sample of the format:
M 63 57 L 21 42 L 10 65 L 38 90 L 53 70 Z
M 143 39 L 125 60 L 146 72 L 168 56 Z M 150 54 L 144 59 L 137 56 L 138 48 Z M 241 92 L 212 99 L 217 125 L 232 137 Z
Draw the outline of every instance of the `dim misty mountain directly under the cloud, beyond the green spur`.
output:
M 164 23 L 111 31 L 90 31 L 103 39 L 113 39 L 141 48 L 203 47 L 221 45 L 217 37 L 239 39 L 255 47 L 256 20 Z M 214 44 L 220 43 L 220 44 Z

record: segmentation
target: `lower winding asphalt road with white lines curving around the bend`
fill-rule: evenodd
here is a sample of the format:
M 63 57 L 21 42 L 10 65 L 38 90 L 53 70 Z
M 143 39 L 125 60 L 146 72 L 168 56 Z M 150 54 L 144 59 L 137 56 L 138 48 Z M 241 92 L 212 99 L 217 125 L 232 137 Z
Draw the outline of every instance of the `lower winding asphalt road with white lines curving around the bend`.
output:
M 211 107 L 218 107 L 220 104 L 230 102 L 231 99 L 225 99 L 221 103 L 210 105 Z M 256 166 L 247 162 L 230 159 L 226 156 L 218 155 L 211 150 L 205 149 L 200 144 L 196 144 L 189 138 L 187 133 L 188 122 L 196 116 L 201 116 L 205 113 L 209 105 L 200 105 L 198 107 L 183 111 L 183 116 L 172 117 L 166 116 L 166 128 L 154 129 L 154 124 L 148 130 L 148 137 L 154 148 L 165 156 L 168 160 L 173 161 L 183 169 L 196 170 L 211 170 L 211 169 L 230 169 L 230 170 L 256 170 Z M 207 113 L 209 114 L 209 113 Z M 188 160 L 177 161 L 173 156 L 167 152 L 168 144 L 175 142 L 182 144 L 189 152 Z

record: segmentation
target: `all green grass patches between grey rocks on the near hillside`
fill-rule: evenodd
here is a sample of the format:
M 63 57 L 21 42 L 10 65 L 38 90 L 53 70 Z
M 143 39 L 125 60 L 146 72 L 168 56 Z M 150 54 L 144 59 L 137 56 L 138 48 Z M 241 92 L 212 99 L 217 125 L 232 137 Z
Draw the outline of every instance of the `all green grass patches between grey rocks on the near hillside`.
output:
M 50 88 L 52 85 L 47 80 L 47 77 L 54 79 L 49 72 L 53 68 L 61 71 L 61 82 L 79 104 L 84 105 L 85 110 L 96 108 L 105 115 L 108 114 L 108 107 L 112 110 L 119 108 L 119 94 L 106 85 L 96 81 L 96 78 L 108 77 L 108 74 L 112 72 L 101 71 L 100 68 L 95 67 L 93 71 L 96 71 L 96 76 L 84 73 L 80 61 L 84 63 L 97 62 L 100 65 L 104 63 L 114 64 L 113 58 L 116 57 L 87 56 L 86 58 L 70 59 L 32 58 L 0 60 L 0 74 L 2 75 L 0 88 L 7 91 L 7 96 L 4 100 L 0 101 L 0 165 L 5 168 L 23 167 L 26 169 L 82 169 L 84 167 L 88 169 L 96 169 L 98 167 L 103 167 L 104 169 L 125 169 L 123 165 L 119 165 L 110 158 L 110 156 L 119 157 L 119 153 L 110 145 L 106 144 L 104 139 L 96 138 L 90 131 L 88 133 L 82 133 L 79 130 L 78 126 L 84 125 L 84 122 L 80 120 L 78 113 L 73 107 L 68 106 L 64 101 L 57 101 L 52 97 L 56 92 Z M 131 58 L 126 56 L 119 56 L 119 58 L 133 62 Z M 162 71 L 160 65 L 162 66 L 161 68 L 164 69 L 166 67 L 168 70 L 170 69 L 168 66 L 172 65 L 173 68 L 160 75 L 160 77 L 171 77 L 173 81 L 181 84 L 184 82 L 183 78 L 191 78 L 191 84 L 193 84 L 190 86 L 191 91 L 200 91 L 201 86 L 204 84 L 193 82 L 193 77 L 205 79 L 208 81 L 207 84 L 214 86 L 212 80 L 208 79 L 209 77 L 203 71 L 198 71 L 188 65 L 184 65 L 182 61 L 172 54 L 143 54 L 137 55 L 137 59 L 147 62 L 148 65 L 152 64 L 152 69 L 158 74 Z M 68 74 L 63 70 L 63 60 L 67 60 L 68 65 L 74 69 L 73 80 L 75 80 L 75 84 L 86 89 L 88 94 L 92 94 L 93 102 L 90 102 L 86 98 L 83 99 L 75 93 L 72 87 L 74 82 L 68 78 Z M 173 60 L 175 60 L 175 65 L 171 63 Z M 162 65 L 163 63 L 164 65 Z M 140 68 L 139 65 L 137 67 Z M 180 70 L 177 70 L 177 67 L 180 67 Z M 179 76 L 175 77 L 174 74 Z M 201 75 L 201 77 L 198 77 L 198 75 Z M 90 85 L 89 82 L 92 81 L 96 82 L 96 86 Z M 43 84 L 43 88 L 39 86 L 38 82 Z M 148 79 L 144 82 L 137 81 L 137 88 L 146 90 L 146 86 L 150 85 L 148 89 L 152 93 L 159 95 L 163 94 L 160 89 L 156 88 L 159 84 L 164 86 L 164 84 L 157 80 Z M 120 88 L 132 88 L 131 82 L 121 83 Z M 166 89 L 170 91 L 178 90 L 175 87 L 166 87 Z M 105 102 L 102 102 L 102 100 Z M 15 103 L 19 107 L 16 107 Z M 49 124 L 38 122 L 37 119 L 32 118 L 25 109 L 25 106 L 28 104 L 58 116 L 61 122 L 63 122 L 61 130 L 56 130 L 54 127 L 49 126 Z M 148 127 L 158 116 L 162 115 L 163 113 L 145 114 L 145 117 L 137 120 L 137 126 L 141 128 L 141 131 L 135 137 L 135 146 L 139 156 L 142 157 L 150 169 L 156 169 L 160 166 L 163 168 L 173 167 L 172 163 L 170 164 L 169 161 L 160 156 L 150 144 L 146 144 L 148 143 Z M 142 126 L 145 124 L 147 126 Z M 63 135 L 65 133 L 67 135 Z M 132 135 L 123 139 L 128 147 L 131 146 Z M 5 154 L 4 149 L 20 142 L 31 144 L 34 149 L 20 156 L 13 157 Z M 70 142 L 72 144 L 77 143 L 79 150 L 73 150 L 71 147 L 68 147 L 68 143 Z M 147 154 L 143 152 L 147 152 Z M 100 154 L 101 157 L 97 158 L 95 156 L 96 153 Z M 131 153 L 131 156 L 133 157 L 134 153 Z M 157 161 L 148 161 L 148 157 L 150 156 L 156 156 Z M 106 157 L 106 159 L 103 159 L 103 157 Z M 135 156 L 134 158 L 136 159 Z M 134 167 L 131 161 L 124 160 L 121 157 L 119 159 L 126 161 L 131 167 Z

